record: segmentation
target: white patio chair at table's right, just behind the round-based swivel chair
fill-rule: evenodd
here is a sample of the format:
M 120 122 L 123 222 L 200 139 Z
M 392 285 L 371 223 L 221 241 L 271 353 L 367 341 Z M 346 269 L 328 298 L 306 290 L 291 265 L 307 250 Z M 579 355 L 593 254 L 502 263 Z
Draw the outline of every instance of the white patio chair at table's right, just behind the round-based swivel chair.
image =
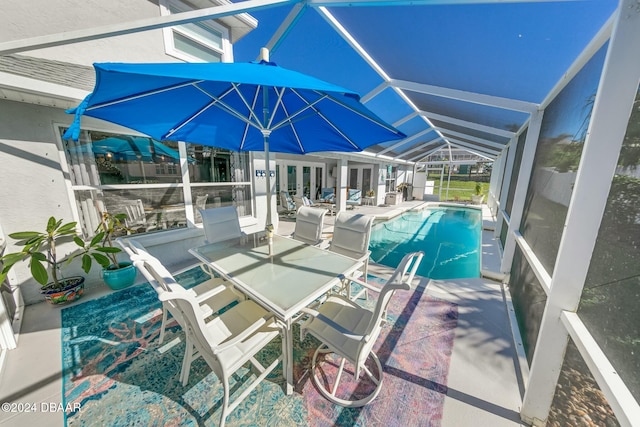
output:
M 351 295 L 351 279 L 362 276 L 363 281 L 367 281 L 369 256 L 371 255 L 369 240 L 371 239 L 373 219 L 372 216 L 344 211 L 339 212 L 336 216 L 329 250 L 364 262 L 361 272 L 356 273 L 354 276 L 346 277 L 343 281 L 347 296 L 351 299 L 359 298 L 362 295 L 365 298 L 367 297 L 366 288 L 361 289 L 356 295 Z

